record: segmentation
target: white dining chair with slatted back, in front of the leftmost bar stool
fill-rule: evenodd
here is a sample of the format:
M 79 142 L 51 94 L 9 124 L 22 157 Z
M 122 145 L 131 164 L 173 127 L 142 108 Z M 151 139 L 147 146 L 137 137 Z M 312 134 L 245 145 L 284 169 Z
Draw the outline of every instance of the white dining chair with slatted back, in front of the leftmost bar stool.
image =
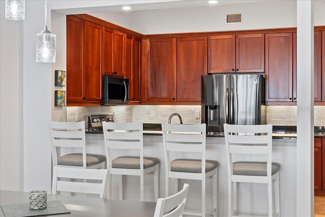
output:
M 108 170 L 53 167 L 52 194 L 57 192 L 98 194 L 100 198 L 107 195 Z M 66 179 L 62 179 L 66 178 Z M 77 182 L 76 179 L 99 180 L 101 182 Z

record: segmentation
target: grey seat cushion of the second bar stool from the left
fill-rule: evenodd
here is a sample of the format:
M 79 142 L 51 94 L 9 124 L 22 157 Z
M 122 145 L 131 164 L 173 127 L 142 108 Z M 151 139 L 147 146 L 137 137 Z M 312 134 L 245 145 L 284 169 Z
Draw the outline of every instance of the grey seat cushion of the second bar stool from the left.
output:
M 157 158 L 143 157 L 143 169 L 159 164 Z M 124 169 L 140 169 L 140 157 L 137 156 L 121 156 L 112 161 L 112 168 Z

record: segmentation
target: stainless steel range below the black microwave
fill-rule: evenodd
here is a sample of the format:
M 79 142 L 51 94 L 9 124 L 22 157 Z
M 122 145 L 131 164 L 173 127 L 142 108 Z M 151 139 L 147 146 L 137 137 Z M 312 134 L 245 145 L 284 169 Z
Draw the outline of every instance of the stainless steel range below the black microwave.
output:
M 94 114 L 86 118 L 87 132 L 103 132 L 103 121 L 114 122 L 114 114 Z

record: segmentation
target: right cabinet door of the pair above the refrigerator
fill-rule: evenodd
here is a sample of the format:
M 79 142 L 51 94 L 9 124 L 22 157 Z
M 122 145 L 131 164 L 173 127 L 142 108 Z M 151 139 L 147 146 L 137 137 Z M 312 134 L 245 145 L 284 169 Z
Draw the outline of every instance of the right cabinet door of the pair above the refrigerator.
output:
M 236 72 L 264 72 L 264 34 L 236 36 Z

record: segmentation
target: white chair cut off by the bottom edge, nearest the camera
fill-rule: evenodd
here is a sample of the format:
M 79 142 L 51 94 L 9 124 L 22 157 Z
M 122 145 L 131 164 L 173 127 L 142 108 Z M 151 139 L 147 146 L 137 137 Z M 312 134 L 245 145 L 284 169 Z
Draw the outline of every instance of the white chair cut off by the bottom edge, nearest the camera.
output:
M 185 207 L 189 185 L 184 183 L 183 189 L 176 194 L 157 200 L 154 217 L 181 217 Z

